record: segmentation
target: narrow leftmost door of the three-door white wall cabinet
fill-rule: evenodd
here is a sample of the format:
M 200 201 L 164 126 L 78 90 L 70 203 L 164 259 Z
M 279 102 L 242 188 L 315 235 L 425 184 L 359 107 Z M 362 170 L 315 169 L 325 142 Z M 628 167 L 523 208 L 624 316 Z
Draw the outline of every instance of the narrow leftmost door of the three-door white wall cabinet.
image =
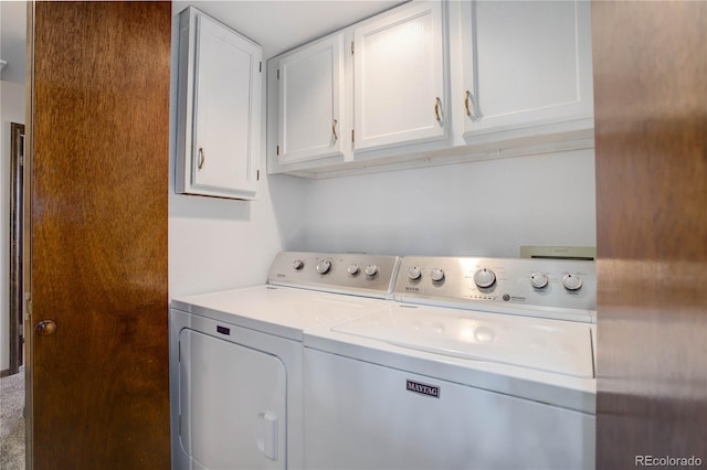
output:
M 342 57 L 339 33 L 279 60 L 281 164 L 344 154 Z

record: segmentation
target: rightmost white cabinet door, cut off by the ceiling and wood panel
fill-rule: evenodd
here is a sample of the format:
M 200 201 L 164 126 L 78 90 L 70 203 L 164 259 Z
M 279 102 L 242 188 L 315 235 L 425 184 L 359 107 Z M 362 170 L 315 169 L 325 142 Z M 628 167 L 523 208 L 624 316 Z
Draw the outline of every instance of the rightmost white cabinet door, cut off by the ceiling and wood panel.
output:
M 592 117 L 589 3 L 463 4 L 465 135 Z

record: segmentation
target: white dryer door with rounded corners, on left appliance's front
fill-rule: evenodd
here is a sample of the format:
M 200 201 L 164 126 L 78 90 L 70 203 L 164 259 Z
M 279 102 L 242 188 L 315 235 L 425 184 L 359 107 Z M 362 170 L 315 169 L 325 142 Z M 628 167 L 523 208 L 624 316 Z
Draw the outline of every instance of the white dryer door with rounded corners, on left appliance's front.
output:
M 204 469 L 286 468 L 286 382 L 271 354 L 184 329 L 181 445 Z

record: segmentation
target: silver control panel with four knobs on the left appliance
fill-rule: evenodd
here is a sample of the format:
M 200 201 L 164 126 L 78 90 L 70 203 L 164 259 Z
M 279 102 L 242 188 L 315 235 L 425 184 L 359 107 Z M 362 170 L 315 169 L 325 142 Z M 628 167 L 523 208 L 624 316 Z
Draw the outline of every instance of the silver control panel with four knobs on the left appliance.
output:
M 338 293 L 392 298 L 398 256 L 361 253 L 279 253 L 267 276 L 268 284 Z

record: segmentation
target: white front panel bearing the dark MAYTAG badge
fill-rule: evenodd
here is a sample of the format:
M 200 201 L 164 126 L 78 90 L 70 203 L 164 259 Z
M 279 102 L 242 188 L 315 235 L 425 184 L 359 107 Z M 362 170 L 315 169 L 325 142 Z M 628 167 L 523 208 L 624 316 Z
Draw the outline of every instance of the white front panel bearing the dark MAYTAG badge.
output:
M 307 469 L 594 467 L 593 415 L 307 348 L 304 361 Z

